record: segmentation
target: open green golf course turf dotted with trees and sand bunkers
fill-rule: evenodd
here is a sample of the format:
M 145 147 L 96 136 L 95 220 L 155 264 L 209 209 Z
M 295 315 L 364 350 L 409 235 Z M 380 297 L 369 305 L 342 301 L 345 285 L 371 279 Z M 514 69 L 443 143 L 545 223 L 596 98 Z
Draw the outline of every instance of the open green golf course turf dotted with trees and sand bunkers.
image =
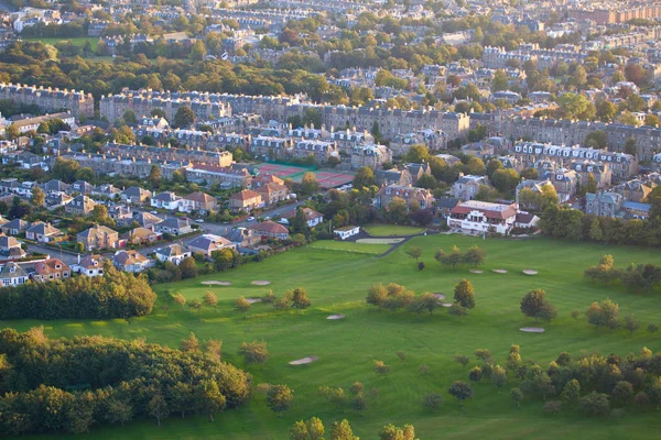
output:
M 327 243 L 322 243 L 327 244 Z M 315 244 L 315 245 L 322 245 Z M 452 245 L 467 249 L 478 244 L 486 250 L 484 274 L 470 274 L 465 268 L 443 270 L 433 260 L 438 249 Z M 420 272 L 415 262 L 404 252 L 408 246 L 423 249 L 421 258 L 427 267 Z M 364 246 L 364 245 L 362 245 Z M 371 248 L 371 246 L 370 246 Z M 156 286 L 159 305 L 169 301 L 169 294 L 181 292 L 186 298 L 201 298 L 213 290 L 219 298 L 218 311 L 204 309 L 201 314 L 182 310 L 170 304 L 167 311 L 160 307 L 154 314 L 140 319 L 111 321 L 61 320 L 46 322 L 52 337 L 105 334 L 118 338 L 144 338 L 177 346 L 178 341 L 194 331 L 201 340 L 223 339 L 224 359 L 245 367 L 254 376 L 254 383 L 288 384 L 295 395 L 292 409 L 284 418 L 272 414 L 264 397 L 256 395 L 252 402 L 238 410 L 217 417 L 215 422 L 204 418 L 166 420 L 158 428 L 151 420 L 132 422 L 124 428 L 104 427 L 93 432 L 95 439 L 224 439 L 267 440 L 289 438 L 289 427 L 300 419 L 317 416 L 329 425 L 347 418 L 361 439 L 377 438 L 384 424 L 413 424 L 421 439 L 643 439 L 659 426 L 658 413 L 640 414 L 630 410 L 620 421 L 587 419 L 573 410 L 556 416 L 542 411 L 541 402 L 523 402 L 517 408 L 509 396 L 510 378 L 502 394 L 497 394 L 490 383 L 474 386 L 474 398 L 463 409 L 446 393 L 455 380 L 466 380 L 472 362 L 462 367 L 453 358 L 472 354 L 477 348 L 491 350 L 498 362 L 505 363 L 510 344 L 521 345 L 523 359 L 534 359 L 546 364 L 561 351 L 578 355 L 584 351 L 602 354 L 637 352 L 643 345 L 661 350 L 661 334 L 651 336 L 640 330 L 629 339 L 625 330 L 595 331 L 582 318 L 574 321 L 570 312 L 585 310 L 594 300 L 610 297 L 619 302 L 620 315 L 629 312 L 643 322 L 661 323 L 661 298 L 654 295 L 632 294 L 621 287 L 602 287 L 586 282 L 582 272 L 595 264 L 604 253 L 613 253 L 616 265 L 629 263 L 661 263 L 658 251 L 633 248 L 613 248 L 596 244 L 572 244 L 562 241 L 535 239 L 530 241 L 487 240 L 456 235 L 429 235 L 412 239 L 386 257 L 339 252 L 337 250 L 306 246 L 259 264 L 209 275 L 194 280 Z M 495 274 L 492 268 L 506 268 L 508 274 Z M 539 271 L 537 276 L 521 274 L 523 268 Z M 477 307 L 458 322 L 438 310 L 434 316 L 413 316 L 408 312 L 387 312 L 367 307 L 364 298 L 371 283 L 395 282 L 415 292 L 451 294 L 462 278 L 472 279 L 476 289 Z M 229 287 L 203 286 L 202 280 L 231 280 Z M 269 279 L 268 287 L 250 284 L 254 279 Z M 273 311 L 263 304 L 253 305 L 245 319 L 232 310 L 234 299 L 240 295 L 264 295 L 269 288 L 280 295 L 285 289 L 303 286 L 308 292 L 313 307 L 303 314 Z M 518 329 L 533 326 L 522 316 L 519 301 L 525 292 L 542 287 L 559 310 L 559 319 L 544 324 L 543 334 L 522 333 Z M 346 319 L 329 321 L 330 314 L 344 314 Z M 40 324 L 36 321 L 4 321 L 0 327 L 26 330 Z M 264 340 L 271 359 L 263 370 L 245 366 L 237 356 L 243 341 Z M 402 364 L 395 353 L 407 353 Z M 290 366 L 289 361 L 316 355 L 311 365 Z M 392 365 L 389 376 L 378 377 L 372 372 L 372 361 L 382 360 Z M 419 366 L 426 364 L 426 377 Z M 378 397 L 369 408 L 357 413 L 337 409 L 317 395 L 319 386 L 342 386 L 355 382 L 366 388 L 378 388 Z M 436 413 L 422 408 L 422 397 L 430 392 L 444 396 Z M 45 439 L 45 437 L 33 437 Z M 72 436 L 48 436 L 48 439 L 69 439 Z

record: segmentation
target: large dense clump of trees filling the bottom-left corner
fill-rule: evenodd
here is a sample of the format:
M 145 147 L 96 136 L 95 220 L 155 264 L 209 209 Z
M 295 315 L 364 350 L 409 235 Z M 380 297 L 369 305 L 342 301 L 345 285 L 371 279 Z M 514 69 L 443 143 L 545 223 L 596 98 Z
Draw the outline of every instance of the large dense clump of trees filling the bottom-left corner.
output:
M 251 380 L 218 343 L 178 351 L 144 341 L 51 341 L 43 328 L 0 331 L 0 435 L 85 432 L 133 418 L 214 415 L 248 402 Z

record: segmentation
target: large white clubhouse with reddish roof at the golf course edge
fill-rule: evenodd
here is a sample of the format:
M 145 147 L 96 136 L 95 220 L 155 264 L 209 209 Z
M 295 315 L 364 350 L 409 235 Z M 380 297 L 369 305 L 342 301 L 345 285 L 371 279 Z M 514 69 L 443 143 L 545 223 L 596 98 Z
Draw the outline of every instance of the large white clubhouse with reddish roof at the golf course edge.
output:
M 447 226 L 465 233 L 507 234 L 517 219 L 516 205 L 489 204 L 468 200 L 458 204 L 449 211 Z

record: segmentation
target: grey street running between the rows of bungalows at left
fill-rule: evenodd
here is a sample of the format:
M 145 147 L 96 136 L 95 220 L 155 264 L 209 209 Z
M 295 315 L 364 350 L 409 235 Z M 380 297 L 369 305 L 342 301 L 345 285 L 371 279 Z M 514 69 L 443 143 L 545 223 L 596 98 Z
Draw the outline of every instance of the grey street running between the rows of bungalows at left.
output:
M 278 220 L 280 220 L 280 216 L 282 216 L 284 212 L 289 212 L 292 209 L 295 209 L 299 205 L 301 205 L 301 202 L 296 202 L 295 205 L 285 205 L 282 207 L 278 207 L 275 209 L 262 212 L 260 217 L 263 217 L 263 218 L 271 217 L 271 219 L 273 221 L 278 221 Z M 151 211 L 151 210 L 145 208 L 145 209 L 142 209 L 142 211 Z M 172 217 L 172 216 L 169 216 L 169 217 Z M 193 221 L 193 223 L 199 226 L 199 230 L 203 233 L 212 233 L 212 234 L 216 234 L 216 235 L 225 235 L 227 233 L 227 231 L 230 230 L 231 228 L 246 228 L 246 227 L 249 227 L 250 224 L 254 224 L 256 222 L 257 222 L 257 220 L 252 220 L 252 221 L 242 220 L 242 221 L 238 221 L 235 223 L 224 224 L 224 223 L 212 223 L 212 222 L 207 222 L 207 221 L 205 221 L 204 223 L 197 223 L 197 222 Z M 188 244 L 191 241 L 195 240 L 196 237 L 198 237 L 198 235 L 187 237 L 182 240 L 182 243 Z M 178 242 L 178 241 L 175 240 L 174 242 Z M 152 252 L 155 252 L 158 249 L 163 248 L 165 245 L 166 245 L 166 243 L 159 243 L 158 245 L 154 245 L 154 246 L 141 248 L 140 253 L 143 255 L 149 255 Z M 44 246 L 41 244 L 29 244 L 29 250 L 31 252 L 39 252 L 42 254 L 48 254 L 52 257 L 61 258 L 64 263 L 68 264 L 69 266 L 72 264 L 75 264 L 78 262 L 78 254 L 73 253 L 71 251 L 66 251 L 66 250 L 62 250 L 62 252 L 59 252 L 58 249 Z M 113 252 L 104 252 L 102 254 L 105 256 L 111 256 L 113 254 Z M 83 256 L 83 255 L 84 254 L 80 254 L 80 256 Z

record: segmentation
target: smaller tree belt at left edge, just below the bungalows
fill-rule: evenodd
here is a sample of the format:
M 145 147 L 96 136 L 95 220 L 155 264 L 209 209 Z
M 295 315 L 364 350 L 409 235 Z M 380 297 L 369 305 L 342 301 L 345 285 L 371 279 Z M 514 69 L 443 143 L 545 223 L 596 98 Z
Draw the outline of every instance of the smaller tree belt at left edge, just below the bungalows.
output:
M 105 265 L 104 276 L 0 288 L 0 319 L 109 319 L 145 316 L 156 294 L 147 277 Z

